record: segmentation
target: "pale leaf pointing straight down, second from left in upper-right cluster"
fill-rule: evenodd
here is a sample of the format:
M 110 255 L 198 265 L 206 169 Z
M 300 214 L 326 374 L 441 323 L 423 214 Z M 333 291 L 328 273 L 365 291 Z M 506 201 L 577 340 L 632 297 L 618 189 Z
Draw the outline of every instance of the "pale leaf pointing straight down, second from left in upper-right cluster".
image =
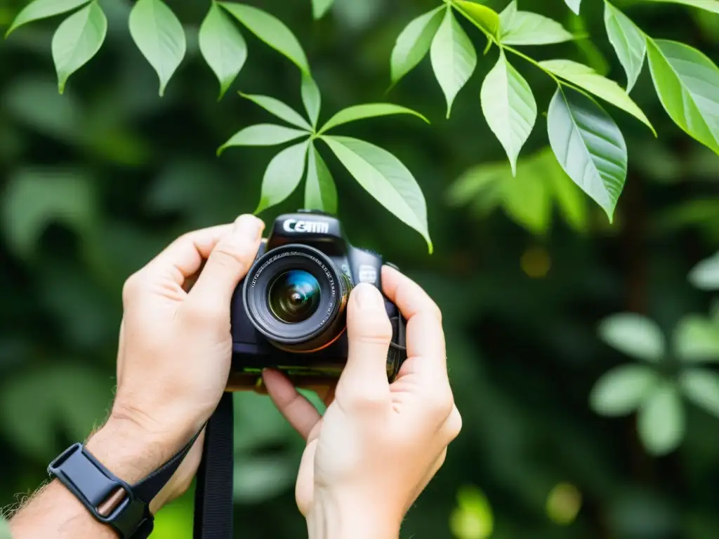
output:
M 452 9 L 447 9 L 429 50 L 432 69 L 447 102 L 447 118 L 457 93 L 477 67 L 477 51 Z

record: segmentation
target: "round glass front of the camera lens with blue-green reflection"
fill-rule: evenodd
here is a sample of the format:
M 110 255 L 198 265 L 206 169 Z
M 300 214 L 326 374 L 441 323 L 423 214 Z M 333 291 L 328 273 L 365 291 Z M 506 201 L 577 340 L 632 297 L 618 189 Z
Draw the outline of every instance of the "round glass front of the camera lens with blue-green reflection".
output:
M 306 321 L 319 307 L 319 282 L 303 270 L 290 270 L 275 278 L 267 301 L 281 321 L 294 324 Z

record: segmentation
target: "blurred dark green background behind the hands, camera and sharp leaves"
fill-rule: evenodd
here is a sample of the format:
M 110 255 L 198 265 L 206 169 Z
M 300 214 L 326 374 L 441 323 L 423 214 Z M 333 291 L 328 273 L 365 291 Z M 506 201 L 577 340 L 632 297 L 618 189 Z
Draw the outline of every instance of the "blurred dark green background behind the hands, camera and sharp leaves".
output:
M 589 405 L 601 374 L 632 361 L 597 337 L 603 317 L 644 313 L 669 334 L 687 313 L 707 313 L 712 300 L 687 274 L 719 249 L 719 159 L 672 124 L 648 68 L 632 96 L 659 139 L 612 110 L 629 151 L 613 225 L 586 198 L 570 205 L 573 218 L 542 209 L 544 203 L 537 209 L 538 200 L 553 198 L 545 195 L 553 188 L 541 169 L 513 188 L 456 204 L 457 178 L 506 161 L 479 101 L 495 51 L 480 59 L 447 121 L 428 59 L 384 94 L 395 38 L 436 1 L 336 0 L 319 22 L 311 19 L 309 0 L 248 3 L 297 34 L 323 93 L 323 119 L 344 106 L 386 99 L 432 121 L 398 117 L 342 128 L 390 150 L 413 171 L 428 201 L 431 256 L 421 236 L 321 147 L 349 239 L 399 264 L 444 313 L 464 429 L 409 512 L 403 537 L 719 537 L 719 419 L 687 405 L 682 445 L 656 457 L 638 440 L 633 416 L 602 418 Z M 58 19 L 24 27 L 0 46 L 2 506 L 32 492 L 47 462 L 103 420 L 124 279 L 178 234 L 257 206 L 275 150 L 230 149 L 215 157 L 234 132 L 270 118 L 236 91 L 301 109 L 298 70 L 249 32 L 249 59 L 232 91 L 216 101 L 217 82 L 197 48 L 209 6 L 199 0 L 168 1 L 187 26 L 188 57 L 159 98 L 156 75 L 127 30 L 131 4 L 101 4 L 109 17 L 106 44 L 64 96 L 50 57 Z M 502 9 L 505 2 L 489 4 Z M 526 52 L 590 63 L 625 85 L 602 4 L 585 0 L 578 19 L 561 0 L 523 0 L 522 9 L 585 27 L 595 43 Z M 0 1 L 0 26 L 22 5 Z M 719 16 L 674 4 L 617 5 L 652 37 L 686 42 L 719 60 Z M 481 51 L 484 38 L 465 28 Z M 519 60 L 514 65 L 546 111 L 551 80 Z M 545 147 L 540 116 L 523 156 Z M 300 207 L 301 191 L 262 217 L 269 222 Z M 237 537 L 305 536 L 293 497 L 302 441 L 258 395 L 237 395 L 236 431 Z M 153 537 L 191 538 L 191 494 L 160 513 Z

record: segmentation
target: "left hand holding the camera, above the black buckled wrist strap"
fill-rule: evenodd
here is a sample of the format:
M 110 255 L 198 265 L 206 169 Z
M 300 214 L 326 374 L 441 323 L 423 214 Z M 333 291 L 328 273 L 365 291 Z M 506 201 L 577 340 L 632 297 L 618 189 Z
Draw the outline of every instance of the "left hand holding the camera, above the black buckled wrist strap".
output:
M 91 452 L 104 438 L 115 445 L 120 438 L 144 441 L 132 474 L 140 479 L 203 427 L 229 374 L 232 293 L 255 259 L 263 229 L 258 218 L 243 215 L 234 224 L 191 232 L 129 277 L 122 292 L 116 397 L 107 434 L 88 442 Z M 187 489 L 202 441 L 201 436 L 153 510 Z M 123 459 L 119 453 L 116 448 L 109 458 Z

